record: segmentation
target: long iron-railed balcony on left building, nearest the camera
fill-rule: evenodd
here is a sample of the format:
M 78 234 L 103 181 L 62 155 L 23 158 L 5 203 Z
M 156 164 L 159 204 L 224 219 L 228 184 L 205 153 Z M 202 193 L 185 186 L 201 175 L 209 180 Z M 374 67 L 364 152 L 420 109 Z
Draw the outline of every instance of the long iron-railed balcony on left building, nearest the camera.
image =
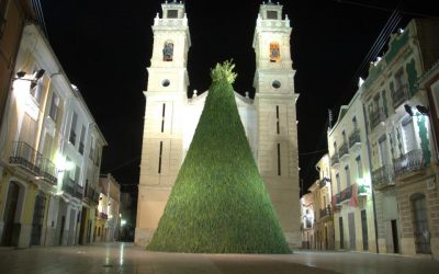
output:
M 24 141 L 13 142 L 9 163 L 18 165 L 52 184 L 57 183 L 55 164 Z

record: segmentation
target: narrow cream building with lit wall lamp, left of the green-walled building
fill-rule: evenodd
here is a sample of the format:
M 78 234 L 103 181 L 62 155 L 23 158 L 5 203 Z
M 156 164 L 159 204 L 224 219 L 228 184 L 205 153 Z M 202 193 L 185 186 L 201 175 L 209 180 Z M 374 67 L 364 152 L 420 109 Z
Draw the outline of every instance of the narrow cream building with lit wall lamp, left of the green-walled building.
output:
M 376 251 L 362 89 L 340 109 L 328 130 L 335 248 Z

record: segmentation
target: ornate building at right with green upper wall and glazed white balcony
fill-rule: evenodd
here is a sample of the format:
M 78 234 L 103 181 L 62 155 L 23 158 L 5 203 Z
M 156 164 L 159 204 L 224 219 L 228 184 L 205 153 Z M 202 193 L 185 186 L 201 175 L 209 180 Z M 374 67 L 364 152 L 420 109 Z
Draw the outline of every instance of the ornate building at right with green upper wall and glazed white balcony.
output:
M 412 20 L 391 36 L 361 85 L 382 253 L 439 252 L 437 151 L 418 83 L 438 60 L 438 20 Z

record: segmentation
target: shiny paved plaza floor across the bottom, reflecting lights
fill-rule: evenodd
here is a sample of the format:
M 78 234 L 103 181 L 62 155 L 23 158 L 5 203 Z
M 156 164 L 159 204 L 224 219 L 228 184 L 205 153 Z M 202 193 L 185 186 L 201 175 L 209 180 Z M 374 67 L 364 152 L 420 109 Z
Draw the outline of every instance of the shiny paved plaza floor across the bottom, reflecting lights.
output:
M 429 258 L 359 252 L 296 251 L 291 255 L 176 254 L 148 252 L 132 243 L 0 248 L 0 273 L 438 273 Z

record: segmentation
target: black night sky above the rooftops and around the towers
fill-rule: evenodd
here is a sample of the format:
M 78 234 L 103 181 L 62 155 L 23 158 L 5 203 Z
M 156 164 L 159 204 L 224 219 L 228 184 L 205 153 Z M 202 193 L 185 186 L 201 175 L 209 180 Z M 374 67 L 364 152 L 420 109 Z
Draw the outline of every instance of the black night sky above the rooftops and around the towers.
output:
M 162 1 L 41 0 L 49 42 L 70 81 L 85 98 L 109 146 L 102 172 L 111 172 L 123 192 L 138 183 L 151 25 Z M 235 90 L 254 95 L 251 47 L 262 1 L 187 0 L 192 47 L 189 92 L 210 85 L 210 69 L 233 58 Z M 429 3 L 430 2 L 430 3 Z M 357 90 L 356 73 L 398 5 L 404 27 L 414 16 L 439 15 L 434 1 L 352 0 L 280 1 L 293 27 L 291 50 L 297 101 L 301 178 L 316 179 L 314 164 L 327 148 L 328 109 L 337 118 L 340 104 Z M 384 49 L 380 50 L 383 53 Z M 368 62 L 370 60 L 367 60 Z M 320 151 L 320 152 L 315 152 Z

